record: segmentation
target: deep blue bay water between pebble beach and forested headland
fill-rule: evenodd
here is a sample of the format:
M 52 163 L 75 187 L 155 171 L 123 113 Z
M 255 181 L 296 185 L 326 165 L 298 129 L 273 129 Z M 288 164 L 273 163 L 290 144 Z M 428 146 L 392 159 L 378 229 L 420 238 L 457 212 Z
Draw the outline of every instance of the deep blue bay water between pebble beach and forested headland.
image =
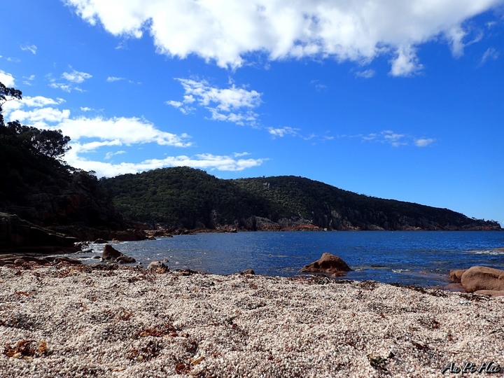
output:
M 94 253 L 103 246 L 92 244 Z M 344 279 L 373 279 L 405 285 L 442 286 L 451 269 L 486 265 L 504 269 L 504 232 L 496 231 L 344 231 L 238 232 L 126 241 L 113 246 L 147 266 L 166 261 L 172 269 L 232 274 L 252 268 L 255 274 L 295 276 L 329 252 L 353 269 Z

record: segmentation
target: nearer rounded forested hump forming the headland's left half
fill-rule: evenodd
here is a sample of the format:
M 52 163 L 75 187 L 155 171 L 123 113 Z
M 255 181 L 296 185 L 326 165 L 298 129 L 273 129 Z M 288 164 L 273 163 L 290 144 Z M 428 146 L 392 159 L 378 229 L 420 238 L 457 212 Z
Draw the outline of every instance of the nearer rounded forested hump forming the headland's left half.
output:
M 100 180 L 116 209 L 131 221 L 172 228 L 233 224 L 236 214 L 253 215 L 262 200 L 200 169 L 174 167 Z

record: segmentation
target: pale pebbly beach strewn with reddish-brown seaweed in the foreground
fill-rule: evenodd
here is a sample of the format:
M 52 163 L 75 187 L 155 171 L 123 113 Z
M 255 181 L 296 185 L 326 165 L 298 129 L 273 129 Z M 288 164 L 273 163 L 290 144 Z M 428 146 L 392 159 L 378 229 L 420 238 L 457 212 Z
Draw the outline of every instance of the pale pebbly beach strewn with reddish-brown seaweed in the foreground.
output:
M 2 377 L 441 377 L 482 364 L 500 376 L 504 366 L 504 297 L 64 264 L 0 267 L 0 281 Z

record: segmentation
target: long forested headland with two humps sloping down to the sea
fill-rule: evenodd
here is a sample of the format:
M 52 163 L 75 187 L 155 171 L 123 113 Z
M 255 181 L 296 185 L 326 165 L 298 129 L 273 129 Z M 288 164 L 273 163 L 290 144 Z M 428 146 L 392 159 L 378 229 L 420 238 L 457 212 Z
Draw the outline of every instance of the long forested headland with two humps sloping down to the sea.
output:
M 244 230 L 500 230 L 448 209 L 358 195 L 296 176 L 223 180 L 174 167 L 99 181 L 148 227 Z

